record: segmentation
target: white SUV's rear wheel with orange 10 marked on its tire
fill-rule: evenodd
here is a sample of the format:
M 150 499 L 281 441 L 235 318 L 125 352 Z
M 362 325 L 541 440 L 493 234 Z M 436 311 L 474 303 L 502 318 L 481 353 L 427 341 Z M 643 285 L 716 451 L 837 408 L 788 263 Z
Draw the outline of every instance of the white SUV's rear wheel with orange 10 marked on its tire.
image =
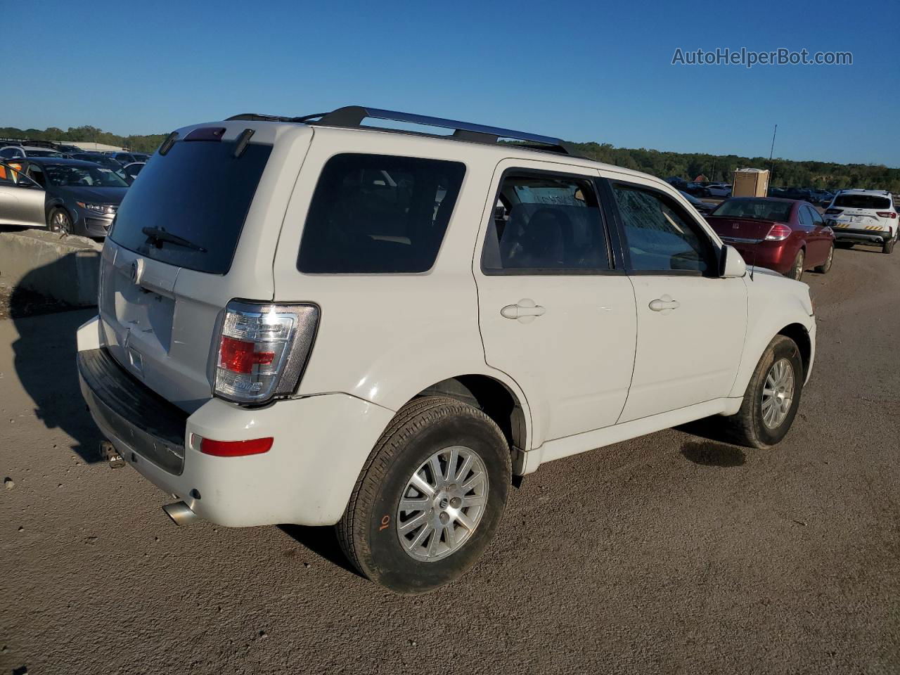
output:
M 338 523 L 366 577 L 423 593 L 478 560 L 506 507 L 509 444 L 481 410 L 440 396 L 410 401 L 375 445 Z

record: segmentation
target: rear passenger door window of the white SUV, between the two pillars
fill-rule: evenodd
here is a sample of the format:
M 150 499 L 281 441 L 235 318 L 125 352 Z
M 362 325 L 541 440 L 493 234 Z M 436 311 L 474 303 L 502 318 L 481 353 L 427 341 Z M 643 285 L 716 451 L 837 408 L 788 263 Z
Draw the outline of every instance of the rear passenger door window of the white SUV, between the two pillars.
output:
M 606 232 L 590 179 L 508 174 L 482 252 L 486 275 L 609 269 Z

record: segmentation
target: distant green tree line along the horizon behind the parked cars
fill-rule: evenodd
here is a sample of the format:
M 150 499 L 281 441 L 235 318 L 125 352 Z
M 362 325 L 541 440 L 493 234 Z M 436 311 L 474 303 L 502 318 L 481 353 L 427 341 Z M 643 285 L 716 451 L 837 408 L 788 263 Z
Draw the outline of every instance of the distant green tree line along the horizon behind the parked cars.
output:
M 31 140 L 93 141 L 129 148 L 135 152 L 153 152 L 166 139 L 165 133 L 119 136 L 91 126 L 39 129 L 0 128 L 0 137 Z M 731 183 L 735 168 L 752 166 L 771 168 L 770 185 L 840 189 L 858 187 L 900 193 L 900 168 L 875 164 L 839 164 L 837 162 L 799 162 L 791 159 L 705 155 L 661 152 L 644 148 L 615 148 L 609 143 L 571 143 L 574 151 L 606 164 L 657 175 L 694 180 L 700 175 L 710 181 Z

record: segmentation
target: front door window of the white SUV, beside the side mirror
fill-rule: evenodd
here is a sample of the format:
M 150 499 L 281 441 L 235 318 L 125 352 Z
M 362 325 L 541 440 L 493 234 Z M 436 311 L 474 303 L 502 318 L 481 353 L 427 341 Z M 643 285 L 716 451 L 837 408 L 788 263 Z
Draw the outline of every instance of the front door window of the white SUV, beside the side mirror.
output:
M 613 184 L 633 269 L 644 272 L 716 269 L 707 234 L 662 193 Z

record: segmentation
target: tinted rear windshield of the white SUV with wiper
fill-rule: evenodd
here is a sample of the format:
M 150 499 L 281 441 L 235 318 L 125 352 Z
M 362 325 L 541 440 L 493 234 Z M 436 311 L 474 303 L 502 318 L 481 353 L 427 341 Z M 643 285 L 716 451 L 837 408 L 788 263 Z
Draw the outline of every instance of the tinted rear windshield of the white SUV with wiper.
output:
M 240 157 L 234 150 L 233 142 L 180 140 L 157 154 L 125 194 L 110 238 L 169 265 L 227 273 L 272 146 L 250 143 Z

